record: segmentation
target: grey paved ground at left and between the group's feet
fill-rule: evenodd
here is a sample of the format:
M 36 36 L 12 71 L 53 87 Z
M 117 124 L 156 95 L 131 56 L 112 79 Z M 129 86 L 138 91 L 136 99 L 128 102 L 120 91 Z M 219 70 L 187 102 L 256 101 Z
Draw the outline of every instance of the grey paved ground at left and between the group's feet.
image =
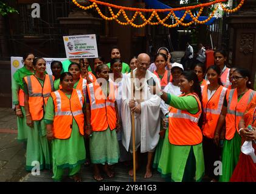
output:
M 32 173 L 26 172 L 24 169 L 26 165 L 24 145 L 17 141 L 17 125 L 16 115 L 12 109 L 0 108 L 0 182 L 4 181 L 24 181 L 24 182 L 52 182 L 52 171 L 43 170 L 40 175 L 33 176 Z M 142 155 L 147 158 L 147 155 Z M 144 161 L 145 162 L 145 161 Z M 116 164 L 114 171 L 116 176 L 114 178 L 107 178 L 103 182 L 109 181 L 133 181 L 133 177 L 128 175 L 128 170 L 131 167 L 123 164 Z M 81 178 L 85 182 L 94 182 L 92 178 L 92 166 L 81 169 Z M 145 165 L 137 172 L 137 181 L 165 181 L 161 178 L 160 173 L 153 171 L 153 177 L 144 179 Z M 63 176 L 63 181 L 72 181 L 68 178 L 67 172 Z

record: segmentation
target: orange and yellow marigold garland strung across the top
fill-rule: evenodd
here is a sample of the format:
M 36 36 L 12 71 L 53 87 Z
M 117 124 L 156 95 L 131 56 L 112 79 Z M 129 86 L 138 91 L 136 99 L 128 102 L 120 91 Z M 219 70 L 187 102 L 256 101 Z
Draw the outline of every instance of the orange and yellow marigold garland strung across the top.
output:
M 244 4 L 245 0 L 241 0 L 240 4 L 238 4 L 237 7 L 232 9 L 232 10 L 224 7 L 223 2 L 226 2 L 227 0 L 215 0 L 215 1 L 212 1 L 212 2 L 208 2 L 208 3 L 205 3 L 205 4 L 198 4 L 198 5 L 194 5 L 194 6 L 179 7 L 179 8 L 165 8 L 165 9 L 146 9 L 146 8 L 123 7 L 123 6 L 120 6 L 120 5 L 109 4 L 107 2 L 102 2 L 102 1 L 97 1 L 97 0 L 88 0 L 88 1 L 92 2 L 92 5 L 89 5 L 89 6 L 85 7 L 83 5 L 78 4 L 78 2 L 76 0 L 72 0 L 72 1 L 74 2 L 75 5 L 77 5 L 77 7 L 81 8 L 83 10 L 88 10 L 88 9 L 91 9 L 91 8 L 95 8 L 95 10 L 97 10 L 99 15 L 103 19 L 105 19 L 105 20 L 115 20 L 120 25 L 131 25 L 132 27 L 135 27 L 135 28 L 142 28 L 142 27 L 145 27 L 145 25 L 150 24 L 150 25 L 164 25 L 165 27 L 172 28 L 172 27 L 177 27 L 178 25 L 189 26 L 193 23 L 206 24 L 206 22 L 209 22 L 210 19 L 212 19 L 212 17 L 214 16 L 214 14 L 215 14 L 215 12 L 218 8 L 218 4 L 221 5 L 221 8 L 223 8 L 224 12 L 233 13 L 233 12 L 237 12 L 237 10 Z M 103 13 L 100 10 L 98 4 L 108 7 L 108 10 L 109 10 L 109 13 L 110 13 L 111 17 L 107 17 L 107 16 L 103 15 Z M 198 18 L 202 14 L 202 10 L 204 9 L 204 7 L 209 7 L 211 5 L 215 5 L 215 9 L 213 10 L 213 12 L 204 21 L 199 21 Z M 114 12 L 112 11 L 112 8 L 116 8 L 117 10 L 119 10 L 119 12 L 117 12 L 117 14 L 115 15 Z M 193 13 L 192 13 L 191 10 L 193 10 L 195 8 L 200 8 L 200 10 L 199 10 L 199 12 L 196 16 L 193 16 Z M 185 11 L 185 12 L 184 12 L 184 15 L 182 16 L 182 18 L 179 19 L 175 15 L 175 11 L 182 11 L 182 10 Z M 129 19 L 128 16 L 126 15 L 125 11 L 131 11 L 131 12 L 135 12 L 135 13 L 134 13 L 133 17 L 131 19 Z M 152 13 L 150 15 L 150 18 L 147 19 L 147 18 L 145 18 L 145 16 L 143 15 L 142 12 L 152 12 Z M 157 12 L 158 13 L 169 12 L 169 13 L 164 19 L 161 19 Z M 121 14 L 125 18 L 126 22 L 121 22 L 118 19 Z M 187 14 L 190 15 L 190 17 L 192 18 L 192 21 L 189 22 L 189 23 L 184 23 L 183 21 L 185 19 L 185 16 L 187 16 Z M 144 21 L 143 24 L 140 24 L 140 25 L 134 24 L 134 21 L 135 21 L 135 19 L 137 18 L 138 15 Z M 165 23 L 170 17 L 175 19 L 175 21 L 176 21 L 175 24 L 166 24 Z M 153 20 L 153 18 L 156 18 L 157 22 L 151 22 Z

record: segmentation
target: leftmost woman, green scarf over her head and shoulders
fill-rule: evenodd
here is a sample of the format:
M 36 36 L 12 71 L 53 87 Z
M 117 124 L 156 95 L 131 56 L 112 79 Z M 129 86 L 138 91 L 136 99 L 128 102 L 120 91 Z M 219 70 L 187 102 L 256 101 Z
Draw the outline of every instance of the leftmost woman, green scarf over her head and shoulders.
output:
M 22 79 L 26 76 L 33 75 L 33 59 L 35 56 L 32 53 L 27 53 L 23 56 L 24 66 L 16 70 L 12 79 L 12 103 L 15 105 L 18 127 L 18 141 L 23 141 L 26 144 L 27 130 L 29 127 L 26 124 L 26 113 L 24 109 L 24 84 Z

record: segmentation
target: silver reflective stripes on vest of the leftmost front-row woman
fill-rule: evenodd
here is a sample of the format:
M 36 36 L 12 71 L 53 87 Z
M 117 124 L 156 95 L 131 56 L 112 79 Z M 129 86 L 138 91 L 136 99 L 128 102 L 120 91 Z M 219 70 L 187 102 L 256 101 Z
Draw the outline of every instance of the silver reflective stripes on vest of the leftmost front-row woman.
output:
M 77 95 L 81 104 L 81 107 L 83 107 L 83 95 L 81 95 L 80 90 L 76 90 L 77 91 Z M 54 92 L 56 95 L 56 101 L 57 101 L 57 112 L 55 112 L 56 116 L 77 116 L 77 115 L 82 115 L 83 111 L 82 110 L 78 110 L 75 112 L 71 112 L 71 111 L 61 111 L 61 97 L 60 97 L 60 93 L 58 91 Z

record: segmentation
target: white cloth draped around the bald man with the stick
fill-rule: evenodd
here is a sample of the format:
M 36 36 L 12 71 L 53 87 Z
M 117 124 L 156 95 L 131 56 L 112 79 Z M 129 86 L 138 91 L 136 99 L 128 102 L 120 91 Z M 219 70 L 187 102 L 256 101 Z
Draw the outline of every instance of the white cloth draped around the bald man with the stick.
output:
M 136 70 L 133 70 L 135 77 Z M 125 149 L 131 151 L 131 112 L 129 101 L 131 99 L 131 73 L 129 73 L 123 81 L 122 86 L 122 143 Z M 142 88 L 145 101 L 140 102 L 141 113 L 135 113 L 135 144 L 136 150 L 140 146 L 140 152 L 149 152 L 157 146 L 160 130 L 160 102 L 161 98 L 157 95 L 151 95 L 148 88 L 147 80 L 154 78 L 154 81 L 160 88 L 160 82 L 156 75 L 147 70 L 144 79 L 144 87 Z M 135 94 L 134 94 L 135 95 Z M 131 145 L 130 145 L 131 144 Z M 129 149 L 130 147 L 130 149 Z

